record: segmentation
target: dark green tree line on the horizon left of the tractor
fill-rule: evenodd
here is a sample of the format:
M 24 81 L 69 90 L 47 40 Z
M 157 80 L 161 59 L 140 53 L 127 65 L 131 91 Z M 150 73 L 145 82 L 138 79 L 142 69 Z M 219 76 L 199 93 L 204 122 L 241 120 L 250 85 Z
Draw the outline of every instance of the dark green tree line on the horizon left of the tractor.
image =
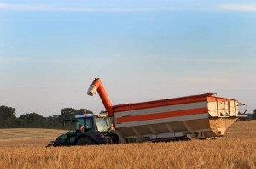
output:
M 86 110 L 86 109 L 85 109 Z M 61 115 L 44 117 L 37 113 L 26 113 L 16 117 L 15 108 L 0 106 L 0 128 L 52 128 L 70 129 L 63 127 L 62 122 L 67 119 L 74 119 L 75 115 L 83 114 L 84 109 L 76 110 L 73 108 L 61 109 Z M 92 113 L 86 110 L 86 113 Z

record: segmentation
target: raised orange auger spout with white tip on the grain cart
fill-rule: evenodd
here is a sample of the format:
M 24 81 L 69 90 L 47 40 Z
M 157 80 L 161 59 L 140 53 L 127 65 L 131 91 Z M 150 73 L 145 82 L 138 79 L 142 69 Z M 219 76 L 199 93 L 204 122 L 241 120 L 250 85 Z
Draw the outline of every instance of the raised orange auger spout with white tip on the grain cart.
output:
M 99 93 L 100 98 L 102 99 L 102 103 L 105 106 L 105 109 L 108 111 L 108 115 L 110 117 L 113 117 L 113 106 L 108 99 L 108 94 L 106 93 L 102 82 L 99 78 L 96 78 L 90 85 L 87 94 L 90 96 L 93 96 L 93 94 L 96 93 L 96 91 Z

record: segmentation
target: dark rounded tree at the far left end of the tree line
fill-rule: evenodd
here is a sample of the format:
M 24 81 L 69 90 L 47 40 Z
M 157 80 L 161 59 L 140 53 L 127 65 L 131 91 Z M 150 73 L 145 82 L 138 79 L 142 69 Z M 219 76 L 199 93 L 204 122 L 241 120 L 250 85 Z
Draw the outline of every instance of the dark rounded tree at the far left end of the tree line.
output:
M 15 108 L 0 106 L 0 127 L 15 127 L 16 115 Z

